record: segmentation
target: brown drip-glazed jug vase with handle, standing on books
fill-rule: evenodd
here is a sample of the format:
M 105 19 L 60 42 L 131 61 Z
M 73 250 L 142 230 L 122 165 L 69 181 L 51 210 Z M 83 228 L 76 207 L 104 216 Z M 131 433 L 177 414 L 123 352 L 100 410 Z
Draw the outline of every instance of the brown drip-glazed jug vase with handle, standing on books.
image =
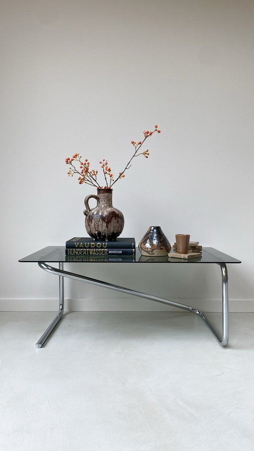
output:
M 120 210 L 112 205 L 113 189 L 98 188 L 97 196 L 85 198 L 85 228 L 94 240 L 115 241 L 123 231 L 125 220 Z M 97 205 L 90 209 L 89 199 L 96 199 Z

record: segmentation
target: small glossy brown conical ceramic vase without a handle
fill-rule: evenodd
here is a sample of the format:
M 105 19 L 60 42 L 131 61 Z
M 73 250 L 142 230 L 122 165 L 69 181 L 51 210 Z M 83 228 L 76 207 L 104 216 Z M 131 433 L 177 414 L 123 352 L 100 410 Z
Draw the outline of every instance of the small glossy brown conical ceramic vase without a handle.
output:
M 164 257 L 171 250 L 171 244 L 160 226 L 151 226 L 138 244 L 142 255 Z

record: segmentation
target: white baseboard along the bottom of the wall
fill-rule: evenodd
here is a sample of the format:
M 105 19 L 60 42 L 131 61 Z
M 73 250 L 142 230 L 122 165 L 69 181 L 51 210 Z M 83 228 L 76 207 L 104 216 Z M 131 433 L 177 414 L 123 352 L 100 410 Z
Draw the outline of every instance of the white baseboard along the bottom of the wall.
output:
M 221 312 L 220 299 L 172 299 L 203 312 Z M 0 299 L 0 311 L 3 312 L 55 312 L 59 309 L 58 299 Z M 105 312 L 180 312 L 176 307 L 142 298 L 121 299 L 65 299 L 65 311 Z M 254 313 L 254 299 L 230 299 L 229 311 L 236 313 Z

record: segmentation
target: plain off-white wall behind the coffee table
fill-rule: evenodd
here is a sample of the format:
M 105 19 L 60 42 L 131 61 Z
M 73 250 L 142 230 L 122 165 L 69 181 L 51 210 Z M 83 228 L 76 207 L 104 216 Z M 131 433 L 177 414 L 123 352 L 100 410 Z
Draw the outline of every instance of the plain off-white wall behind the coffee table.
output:
M 229 265 L 231 310 L 254 311 L 254 2 L 3 0 L 0 20 L 0 308 L 57 308 L 57 279 L 18 259 L 85 235 L 95 190 L 67 177 L 65 157 L 80 152 L 95 169 L 107 158 L 118 172 L 130 141 L 157 123 L 149 159 L 115 185 L 122 236 L 138 243 L 159 225 L 171 242 L 189 232 L 242 260 Z M 88 273 L 220 308 L 217 266 Z M 71 309 L 164 308 L 80 282 L 67 281 L 65 295 Z

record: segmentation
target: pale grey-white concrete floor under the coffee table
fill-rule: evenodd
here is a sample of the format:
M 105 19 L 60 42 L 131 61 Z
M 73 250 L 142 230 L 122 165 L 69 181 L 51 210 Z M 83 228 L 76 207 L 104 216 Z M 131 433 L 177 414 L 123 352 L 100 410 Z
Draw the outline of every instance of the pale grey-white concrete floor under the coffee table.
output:
M 254 313 L 0 313 L 1 451 L 253 451 Z M 209 318 L 220 323 L 219 314 Z

